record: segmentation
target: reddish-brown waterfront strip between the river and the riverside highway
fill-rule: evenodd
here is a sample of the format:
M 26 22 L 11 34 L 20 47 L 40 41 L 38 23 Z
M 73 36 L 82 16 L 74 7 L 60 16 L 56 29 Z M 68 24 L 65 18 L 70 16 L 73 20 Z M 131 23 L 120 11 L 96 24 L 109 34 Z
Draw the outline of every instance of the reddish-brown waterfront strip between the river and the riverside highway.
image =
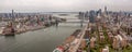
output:
M 70 52 L 73 49 L 72 46 L 75 46 L 78 42 L 78 37 L 81 29 L 76 29 L 69 37 L 65 39 L 65 41 L 56 47 L 56 49 L 53 52 L 59 51 L 59 52 Z

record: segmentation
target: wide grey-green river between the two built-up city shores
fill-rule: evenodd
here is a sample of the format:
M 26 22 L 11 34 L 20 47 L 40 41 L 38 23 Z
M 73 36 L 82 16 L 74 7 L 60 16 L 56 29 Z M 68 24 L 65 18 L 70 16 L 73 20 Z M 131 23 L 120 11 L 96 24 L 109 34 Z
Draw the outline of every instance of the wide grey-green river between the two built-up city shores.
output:
M 0 52 L 52 52 L 78 28 L 81 28 L 79 23 L 61 23 L 58 27 L 51 26 L 14 37 L 0 36 Z

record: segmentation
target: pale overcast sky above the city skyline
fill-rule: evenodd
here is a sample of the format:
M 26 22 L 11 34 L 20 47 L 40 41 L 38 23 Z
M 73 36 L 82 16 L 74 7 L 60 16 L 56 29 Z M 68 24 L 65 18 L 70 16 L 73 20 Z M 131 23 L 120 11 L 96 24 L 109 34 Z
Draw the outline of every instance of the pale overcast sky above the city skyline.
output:
M 89 11 L 105 5 L 110 11 L 132 11 L 132 0 L 0 0 L 0 12 Z

